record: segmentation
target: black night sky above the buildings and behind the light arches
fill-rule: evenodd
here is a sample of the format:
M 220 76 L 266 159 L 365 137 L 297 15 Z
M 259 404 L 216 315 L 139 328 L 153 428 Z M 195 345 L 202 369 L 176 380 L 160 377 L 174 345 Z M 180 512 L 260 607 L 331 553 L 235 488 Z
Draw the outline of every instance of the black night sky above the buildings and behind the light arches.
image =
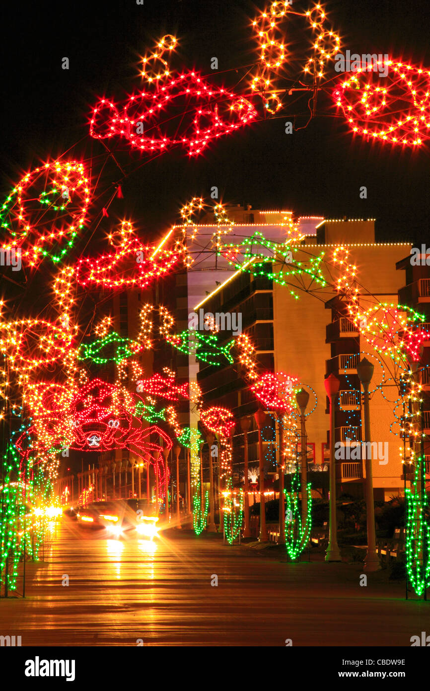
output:
M 297 0 L 293 8 L 306 10 L 311 4 Z M 430 66 L 424 0 L 339 0 L 325 7 L 342 48 L 389 53 Z M 124 92 L 139 88 L 139 55 L 165 33 L 179 39 L 174 68 L 195 67 L 214 84 L 240 91 L 244 66 L 257 59 L 250 21 L 262 8 L 262 3 L 245 0 L 144 0 L 143 6 L 135 0 L 8 3 L 1 41 L 1 198 L 31 166 L 74 145 L 71 153 L 86 160 L 94 157 L 97 170 L 107 154 L 88 136 L 91 107 L 101 95 L 119 101 Z M 305 54 L 311 31 L 301 30 L 295 21 L 284 26 L 293 66 L 294 58 Z M 70 59 L 69 70 L 61 69 L 64 56 Z M 211 70 L 213 56 L 219 61 L 218 73 Z M 354 140 L 324 94 L 309 126 L 286 135 L 284 122 L 306 111 L 306 98 L 292 100 L 284 98 L 280 117 L 220 138 L 197 160 L 176 149 L 148 162 L 145 155 L 130 155 L 123 146 L 117 160 L 126 173 L 121 181 L 124 199 L 115 199 L 110 218 L 94 238 L 106 236 L 124 216 L 136 220 L 142 234 L 157 236 L 177 220 L 177 210 L 188 198 L 208 197 L 216 185 L 225 202 L 328 218 L 375 217 L 378 240 L 426 240 L 429 146 L 416 151 Z M 299 117 L 297 124 L 305 120 Z M 110 159 L 90 210 L 93 224 L 121 177 Z M 367 200 L 359 197 L 362 185 Z

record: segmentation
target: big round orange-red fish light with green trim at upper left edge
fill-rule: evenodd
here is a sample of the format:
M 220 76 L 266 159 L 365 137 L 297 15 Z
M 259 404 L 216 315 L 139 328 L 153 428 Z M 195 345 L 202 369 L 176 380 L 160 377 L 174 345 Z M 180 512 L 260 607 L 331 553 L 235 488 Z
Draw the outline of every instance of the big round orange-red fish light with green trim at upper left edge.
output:
M 30 267 L 59 262 L 84 227 L 90 188 L 84 164 L 55 161 L 23 176 L 0 209 L 2 249 L 21 248 Z

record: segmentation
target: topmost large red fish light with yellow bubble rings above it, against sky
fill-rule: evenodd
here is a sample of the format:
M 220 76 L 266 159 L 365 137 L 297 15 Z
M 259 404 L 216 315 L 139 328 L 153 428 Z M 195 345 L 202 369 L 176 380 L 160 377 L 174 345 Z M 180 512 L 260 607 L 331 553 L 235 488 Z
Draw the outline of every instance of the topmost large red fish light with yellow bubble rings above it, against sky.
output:
M 161 55 L 151 57 L 161 59 Z M 121 136 L 133 148 L 150 153 L 179 144 L 195 156 L 211 140 L 252 122 L 257 115 L 244 97 L 211 86 L 195 71 L 164 70 L 155 78 L 146 77 L 146 82 L 143 91 L 130 95 L 120 107 L 101 99 L 92 111 L 90 135 L 97 139 Z

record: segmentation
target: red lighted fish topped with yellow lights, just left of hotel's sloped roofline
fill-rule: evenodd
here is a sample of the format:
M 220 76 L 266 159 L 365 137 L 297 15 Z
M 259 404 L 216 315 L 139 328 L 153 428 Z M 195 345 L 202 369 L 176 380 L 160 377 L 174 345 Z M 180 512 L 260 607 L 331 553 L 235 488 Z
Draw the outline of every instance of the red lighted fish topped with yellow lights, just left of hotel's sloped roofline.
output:
M 119 236 L 119 244 L 115 239 Z M 76 280 L 80 285 L 116 289 L 145 288 L 160 276 L 165 276 L 186 254 L 179 242 L 173 249 L 157 249 L 142 245 L 134 236 L 131 223 L 122 221 L 119 233 L 110 234 L 115 252 L 97 259 L 84 258 L 76 267 Z

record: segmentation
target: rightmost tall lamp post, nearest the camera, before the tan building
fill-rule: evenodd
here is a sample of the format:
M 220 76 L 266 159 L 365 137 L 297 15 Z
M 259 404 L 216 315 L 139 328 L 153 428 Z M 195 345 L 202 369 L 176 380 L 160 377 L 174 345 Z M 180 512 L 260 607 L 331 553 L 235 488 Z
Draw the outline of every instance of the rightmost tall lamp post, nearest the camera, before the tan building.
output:
M 370 444 L 369 384 L 373 377 L 373 365 L 365 357 L 357 365 L 357 374 L 363 387 L 364 443 L 366 449 L 366 509 L 367 509 L 367 553 L 364 558 L 366 571 L 379 571 L 380 558 L 376 551 L 375 504 L 373 502 L 373 471 Z M 369 442 L 369 443 L 368 443 Z M 369 450 L 369 453 L 367 451 Z

